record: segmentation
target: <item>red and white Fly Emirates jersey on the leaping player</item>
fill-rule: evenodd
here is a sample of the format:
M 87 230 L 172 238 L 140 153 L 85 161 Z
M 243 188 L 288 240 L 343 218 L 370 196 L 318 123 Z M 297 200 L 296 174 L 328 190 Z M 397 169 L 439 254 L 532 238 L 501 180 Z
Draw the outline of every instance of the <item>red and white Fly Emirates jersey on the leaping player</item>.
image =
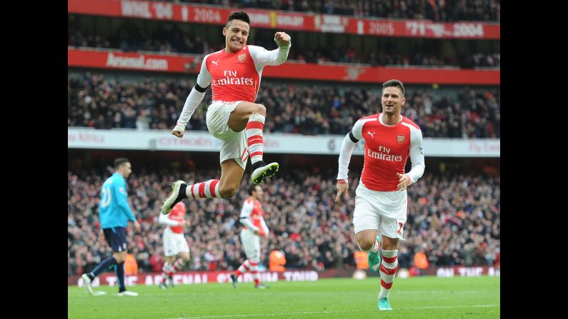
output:
M 213 101 L 254 102 L 264 66 L 283 64 L 289 50 L 247 45 L 235 53 L 216 51 L 204 57 L 197 84 L 206 88 L 211 83 Z

